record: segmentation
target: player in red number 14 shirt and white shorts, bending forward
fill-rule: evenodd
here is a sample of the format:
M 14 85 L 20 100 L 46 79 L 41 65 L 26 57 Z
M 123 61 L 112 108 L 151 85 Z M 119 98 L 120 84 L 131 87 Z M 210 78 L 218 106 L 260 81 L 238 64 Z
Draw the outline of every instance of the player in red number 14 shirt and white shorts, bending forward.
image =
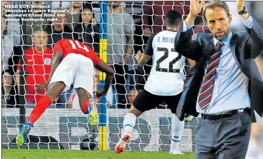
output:
M 37 91 L 48 87 L 45 96 L 39 100 L 27 122 L 22 126 L 16 137 L 16 143 L 21 146 L 26 142 L 27 134 L 32 125 L 45 112 L 46 108 L 55 101 L 60 94 L 74 86 L 79 97 L 79 104 L 84 114 L 89 114 L 91 125 L 98 123 L 96 100 L 93 98 L 94 67 L 106 73 L 105 85 L 96 91 L 96 98 L 107 94 L 113 79 L 114 71 L 88 46 L 72 39 L 58 41 L 53 50 L 55 52 L 48 81 L 40 84 Z

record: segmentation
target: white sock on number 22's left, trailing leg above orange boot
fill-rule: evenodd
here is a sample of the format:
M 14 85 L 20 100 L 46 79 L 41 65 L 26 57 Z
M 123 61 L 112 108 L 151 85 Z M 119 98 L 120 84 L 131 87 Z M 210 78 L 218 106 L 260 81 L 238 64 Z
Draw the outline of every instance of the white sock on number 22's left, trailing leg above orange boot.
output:
M 128 113 L 125 115 L 123 120 L 123 134 L 131 134 L 133 127 L 135 126 L 136 115 Z

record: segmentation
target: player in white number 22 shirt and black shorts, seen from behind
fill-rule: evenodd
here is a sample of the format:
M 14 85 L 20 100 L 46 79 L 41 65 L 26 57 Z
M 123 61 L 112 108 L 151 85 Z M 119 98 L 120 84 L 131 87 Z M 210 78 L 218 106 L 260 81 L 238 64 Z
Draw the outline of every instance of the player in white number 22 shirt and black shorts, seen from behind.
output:
M 115 146 L 116 153 L 122 153 L 125 150 L 125 146 L 131 138 L 136 118 L 144 111 L 156 108 L 164 101 L 174 114 L 170 154 L 183 154 L 179 151 L 179 142 L 184 129 L 184 121 L 180 121 L 175 116 L 183 91 L 186 60 L 186 57 L 174 49 L 174 39 L 181 24 L 182 15 L 174 10 L 168 11 L 165 15 L 166 30 L 152 35 L 144 52 L 137 52 L 136 60 L 139 66 L 143 67 L 152 56 L 153 66 L 144 89 L 138 93 L 130 112 L 124 117 L 124 134 Z

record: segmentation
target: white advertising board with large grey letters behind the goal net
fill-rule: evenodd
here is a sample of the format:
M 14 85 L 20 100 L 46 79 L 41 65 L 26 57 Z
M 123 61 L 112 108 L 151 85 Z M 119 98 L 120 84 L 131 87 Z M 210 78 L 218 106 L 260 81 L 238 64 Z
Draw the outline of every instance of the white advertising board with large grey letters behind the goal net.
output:
M 26 109 L 26 117 L 32 109 Z M 115 144 L 123 133 L 123 119 L 127 109 L 107 110 L 106 150 L 114 150 Z M 151 110 L 143 113 L 137 120 L 132 132 L 131 142 L 126 150 L 169 151 L 171 135 L 170 110 Z M 185 122 L 180 143 L 181 151 L 195 151 L 195 129 L 199 118 Z M 47 109 L 34 123 L 28 143 L 20 148 L 40 149 L 80 149 L 84 139 L 89 139 L 92 126 L 80 109 Z M 99 126 L 94 126 L 95 150 L 100 150 Z M 2 147 L 18 148 L 15 137 L 19 132 L 19 109 L 2 110 Z

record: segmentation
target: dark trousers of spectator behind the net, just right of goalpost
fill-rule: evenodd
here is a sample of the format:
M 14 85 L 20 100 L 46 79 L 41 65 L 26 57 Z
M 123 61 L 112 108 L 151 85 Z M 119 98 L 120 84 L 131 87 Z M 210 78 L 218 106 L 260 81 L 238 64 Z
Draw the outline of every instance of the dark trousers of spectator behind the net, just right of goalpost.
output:
M 128 70 L 128 65 L 120 65 L 120 64 L 114 64 L 111 66 L 112 69 L 115 71 L 114 79 L 112 80 L 112 87 L 116 90 L 116 93 L 118 94 L 119 100 L 118 100 L 118 107 L 119 108 L 126 108 L 127 99 L 126 99 L 126 79 Z

